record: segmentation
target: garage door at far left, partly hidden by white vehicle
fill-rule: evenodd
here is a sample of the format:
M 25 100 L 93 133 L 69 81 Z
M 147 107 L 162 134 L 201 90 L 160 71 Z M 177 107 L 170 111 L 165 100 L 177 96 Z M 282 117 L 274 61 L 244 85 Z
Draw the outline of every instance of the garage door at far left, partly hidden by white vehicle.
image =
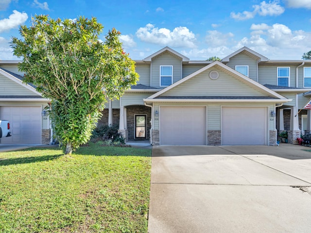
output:
M 10 121 L 12 136 L 1 144 L 41 144 L 41 106 L 1 106 L 0 118 Z

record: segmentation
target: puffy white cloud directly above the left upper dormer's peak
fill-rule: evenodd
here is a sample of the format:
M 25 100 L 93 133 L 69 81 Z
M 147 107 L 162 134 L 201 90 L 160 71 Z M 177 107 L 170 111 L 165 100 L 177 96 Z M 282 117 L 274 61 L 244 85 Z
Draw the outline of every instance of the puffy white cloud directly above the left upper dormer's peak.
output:
M 148 23 L 145 27 L 137 30 L 136 36 L 143 42 L 162 46 L 196 47 L 195 35 L 187 27 L 177 27 L 170 31 L 166 28 L 155 28 L 153 24 Z

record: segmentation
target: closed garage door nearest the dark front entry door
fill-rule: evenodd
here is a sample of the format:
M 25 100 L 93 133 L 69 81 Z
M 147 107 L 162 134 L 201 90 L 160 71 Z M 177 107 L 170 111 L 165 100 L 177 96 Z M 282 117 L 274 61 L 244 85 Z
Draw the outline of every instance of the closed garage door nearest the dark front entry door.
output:
M 206 107 L 160 107 L 161 145 L 206 145 Z

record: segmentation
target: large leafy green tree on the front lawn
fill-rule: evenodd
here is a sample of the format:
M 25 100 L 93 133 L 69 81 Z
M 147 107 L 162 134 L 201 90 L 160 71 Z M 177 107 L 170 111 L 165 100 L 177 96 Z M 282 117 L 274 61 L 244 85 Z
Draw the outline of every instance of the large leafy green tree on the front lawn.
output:
M 73 21 L 39 15 L 30 27 L 20 27 L 22 39 L 12 39 L 14 54 L 22 57 L 23 82 L 35 84 L 51 100 L 48 113 L 66 154 L 89 140 L 104 103 L 119 99 L 138 80 L 120 32 L 112 29 L 103 42 L 103 28 L 95 17 Z

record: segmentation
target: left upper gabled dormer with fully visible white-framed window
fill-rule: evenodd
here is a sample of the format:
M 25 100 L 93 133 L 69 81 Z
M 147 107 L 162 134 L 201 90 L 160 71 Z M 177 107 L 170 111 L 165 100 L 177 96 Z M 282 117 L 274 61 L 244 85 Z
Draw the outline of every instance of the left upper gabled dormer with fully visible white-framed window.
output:
M 162 50 L 143 59 L 150 65 L 150 85 L 165 88 L 182 79 L 182 65 L 189 62 L 189 58 L 165 47 Z

